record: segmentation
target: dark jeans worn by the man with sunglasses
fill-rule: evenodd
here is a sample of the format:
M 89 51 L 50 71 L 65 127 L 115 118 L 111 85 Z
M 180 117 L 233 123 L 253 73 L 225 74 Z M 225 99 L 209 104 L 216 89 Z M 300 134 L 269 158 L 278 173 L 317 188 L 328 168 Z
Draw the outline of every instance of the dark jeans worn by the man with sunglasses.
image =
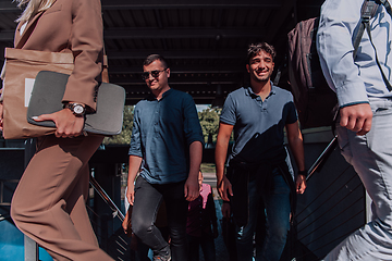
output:
M 164 200 L 173 261 L 187 259 L 186 215 L 188 202 L 184 198 L 184 182 L 149 184 L 139 176 L 135 185 L 135 202 L 132 211 L 132 229 L 154 254 L 164 254 L 169 244 L 155 225 L 157 213 Z

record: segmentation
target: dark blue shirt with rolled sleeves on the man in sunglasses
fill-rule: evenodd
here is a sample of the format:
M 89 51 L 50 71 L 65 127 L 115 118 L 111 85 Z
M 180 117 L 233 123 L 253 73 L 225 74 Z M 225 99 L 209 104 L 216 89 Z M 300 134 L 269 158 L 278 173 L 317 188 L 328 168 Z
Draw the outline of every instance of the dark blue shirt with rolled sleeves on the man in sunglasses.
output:
M 195 102 L 185 92 L 169 89 L 135 107 L 130 156 L 143 158 L 140 175 L 150 184 L 187 178 L 189 145 L 203 142 Z

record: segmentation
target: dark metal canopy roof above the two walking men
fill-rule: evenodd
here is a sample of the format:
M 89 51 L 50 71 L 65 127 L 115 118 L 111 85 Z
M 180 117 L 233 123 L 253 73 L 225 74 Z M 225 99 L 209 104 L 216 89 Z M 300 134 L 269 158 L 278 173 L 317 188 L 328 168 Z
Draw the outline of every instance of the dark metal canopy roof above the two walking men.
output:
M 248 44 L 268 41 L 278 52 L 280 85 L 286 34 L 317 16 L 323 0 L 101 0 L 110 82 L 126 88 L 126 103 L 146 97 L 143 60 L 160 53 L 170 63 L 172 88 L 187 91 L 198 104 L 221 104 L 247 80 Z M 12 47 L 21 11 L 0 0 L 0 48 Z M 3 58 L 0 58 L 3 60 Z

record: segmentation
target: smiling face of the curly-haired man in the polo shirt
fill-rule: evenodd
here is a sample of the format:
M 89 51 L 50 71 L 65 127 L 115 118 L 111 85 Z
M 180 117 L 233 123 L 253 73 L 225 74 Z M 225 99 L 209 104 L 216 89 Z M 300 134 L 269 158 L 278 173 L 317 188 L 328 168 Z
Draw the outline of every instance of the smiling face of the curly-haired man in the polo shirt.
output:
M 269 82 L 273 72 L 273 66 L 272 55 L 260 50 L 255 57 L 249 59 L 249 64 L 246 64 L 246 70 L 250 75 L 250 82 Z

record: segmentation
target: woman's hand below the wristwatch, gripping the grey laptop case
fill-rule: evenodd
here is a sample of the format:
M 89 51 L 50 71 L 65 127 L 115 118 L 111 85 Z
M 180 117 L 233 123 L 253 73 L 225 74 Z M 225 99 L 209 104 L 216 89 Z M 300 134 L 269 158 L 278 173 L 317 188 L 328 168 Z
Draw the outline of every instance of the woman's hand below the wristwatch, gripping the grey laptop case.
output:
M 70 109 L 35 116 L 33 120 L 36 122 L 53 121 L 57 127 L 54 135 L 58 138 L 77 137 L 82 134 L 84 127 L 84 117 L 75 116 Z

